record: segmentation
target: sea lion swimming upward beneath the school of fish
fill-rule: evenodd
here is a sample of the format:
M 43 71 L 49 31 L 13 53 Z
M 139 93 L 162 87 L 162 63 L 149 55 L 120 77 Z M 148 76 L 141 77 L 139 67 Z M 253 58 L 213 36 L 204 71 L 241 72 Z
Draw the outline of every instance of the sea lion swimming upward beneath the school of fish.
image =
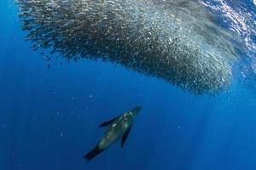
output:
M 121 116 L 116 116 L 108 122 L 103 122 L 99 127 L 108 127 L 106 133 L 102 136 L 102 139 L 96 144 L 93 150 L 90 150 L 84 156 L 84 159 L 90 161 L 92 158 L 102 153 L 103 150 L 108 149 L 108 147 L 114 142 L 121 139 L 121 148 L 124 147 L 125 141 L 131 131 L 132 122 L 134 116 L 143 109 L 142 106 L 137 106 L 131 111 L 126 111 Z

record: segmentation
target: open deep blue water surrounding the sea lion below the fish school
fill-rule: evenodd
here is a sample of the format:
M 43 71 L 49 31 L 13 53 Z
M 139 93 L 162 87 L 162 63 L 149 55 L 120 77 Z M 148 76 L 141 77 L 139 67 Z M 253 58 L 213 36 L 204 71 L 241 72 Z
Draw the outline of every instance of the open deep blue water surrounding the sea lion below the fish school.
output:
M 109 63 L 57 59 L 48 69 L 12 0 L 0 1 L 0 21 L 1 170 L 256 169 L 256 93 L 236 73 L 229 92 L 211 97 Z M 84 161 L 98 125 L 136 105 L 124 149 Z

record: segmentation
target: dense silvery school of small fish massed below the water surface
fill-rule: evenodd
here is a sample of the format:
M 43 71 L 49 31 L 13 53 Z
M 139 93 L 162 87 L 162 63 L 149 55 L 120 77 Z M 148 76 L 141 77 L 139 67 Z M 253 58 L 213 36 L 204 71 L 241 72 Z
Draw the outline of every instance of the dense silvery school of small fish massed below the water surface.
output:
M 229 44 L 216 43 L 216 36 L 207 35 L 207 31 L 212 31 L 218 37 L 225 36 L 208 24 L 210 17 L 203 19 L 205 29 L 193 25 L 196 18 L 193 14 L 206 15 L 197 10 L 201 7 L 195 1 L 17 0 L 17 3 L 22 28 L 35 50 L 49 48 L 49 54 L 60 53 L 66 59 L 111 61 L 194 94 L 215 94 L 231 82 L 229 57 L 224 56 L 231 52 L 223 50 Z

